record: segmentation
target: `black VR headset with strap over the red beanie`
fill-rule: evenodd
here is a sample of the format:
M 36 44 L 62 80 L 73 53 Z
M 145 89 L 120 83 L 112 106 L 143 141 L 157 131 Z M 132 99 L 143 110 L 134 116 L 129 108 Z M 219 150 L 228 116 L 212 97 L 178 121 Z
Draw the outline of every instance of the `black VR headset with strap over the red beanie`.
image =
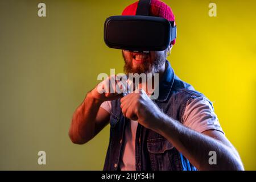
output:
M 104 41 L 110 48 L 134 52 L 163 51 L 176 38 L 177 28 L 167 19 L 148 16 L 150 0 L 140 0 L 136 15 L 110 16 Z

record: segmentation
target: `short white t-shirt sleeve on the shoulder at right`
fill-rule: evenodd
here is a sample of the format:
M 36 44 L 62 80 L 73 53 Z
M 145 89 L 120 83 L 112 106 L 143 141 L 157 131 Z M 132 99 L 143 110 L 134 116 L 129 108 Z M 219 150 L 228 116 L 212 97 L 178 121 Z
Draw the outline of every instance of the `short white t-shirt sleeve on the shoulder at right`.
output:
M 224 133 L 217 115 L 205 97 L 194 98 L 185 107 L 182 119 L 185 126 L 199 133 L 207 130 L 218 130 Z

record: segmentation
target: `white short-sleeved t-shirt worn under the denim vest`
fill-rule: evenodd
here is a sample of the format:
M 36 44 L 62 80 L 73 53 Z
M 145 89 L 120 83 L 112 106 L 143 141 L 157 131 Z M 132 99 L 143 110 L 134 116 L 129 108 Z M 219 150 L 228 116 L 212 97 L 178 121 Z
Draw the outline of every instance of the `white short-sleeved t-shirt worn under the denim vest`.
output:
M 101 107 L 110 113 L 111 101 L 105 101 Z M 192 130 L 203 133 L 207 130 L 222 131 L 218 118 L 214 113 L 212 106 L 204 97 L 198 97 L 192 100 L 186 107 L 184 115 L 181 118 L 183 125 Z M 123 138 L 123 151 L 119 167 L 122 171 L 135 171 L 135 137 L 138 122 L 130 121 L 125 128 L 125 137 Z

